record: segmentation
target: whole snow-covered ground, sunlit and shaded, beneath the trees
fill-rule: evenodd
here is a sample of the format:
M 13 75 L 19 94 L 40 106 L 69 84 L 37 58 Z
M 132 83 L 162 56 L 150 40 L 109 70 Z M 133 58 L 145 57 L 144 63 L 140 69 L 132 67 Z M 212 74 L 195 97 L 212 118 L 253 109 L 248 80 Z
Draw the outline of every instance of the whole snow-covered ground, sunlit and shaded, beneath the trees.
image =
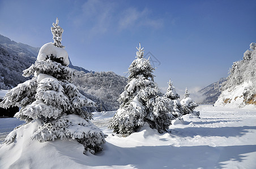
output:
M 84 155 L 83 145 L 74 140 L 30 140 L 36 130 L 31 123 L 18 129 L 14 143 L 0 144 L 0 168 L 256 168 L 255 106 L 200 105 L 196 110 L 200 119 L 185 115 L 173 121 L 169 133 L 145 125 L 128 137 L 107 128 L 115 112 L 94 113 L 92 122 L 108 135 L 95 155 Z M 21 123 L 1 118 L 0 136 Z

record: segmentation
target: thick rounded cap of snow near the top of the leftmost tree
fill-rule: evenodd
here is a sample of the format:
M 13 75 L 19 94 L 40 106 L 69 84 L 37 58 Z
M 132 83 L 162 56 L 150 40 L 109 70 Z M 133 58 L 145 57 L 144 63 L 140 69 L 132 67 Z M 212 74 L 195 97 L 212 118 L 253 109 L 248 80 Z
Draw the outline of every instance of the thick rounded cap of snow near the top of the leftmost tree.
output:
M 69 55 L 64 48 L 56 47 L 54 43 L 46 43 L 40 48 L 39 54 L 37 55 L 37 60 L 44 61 L 48 59 L 48 56 L 53 55 L 57 59 L 62 59 L 64 65 L 69 65 Z

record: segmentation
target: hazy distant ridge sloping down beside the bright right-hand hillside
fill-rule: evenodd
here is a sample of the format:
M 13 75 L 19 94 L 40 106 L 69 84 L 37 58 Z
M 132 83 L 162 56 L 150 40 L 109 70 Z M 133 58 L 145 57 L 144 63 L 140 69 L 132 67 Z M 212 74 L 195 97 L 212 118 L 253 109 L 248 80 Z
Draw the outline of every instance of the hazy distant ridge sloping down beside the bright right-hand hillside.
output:
M 220 96 L 220 87 L 227 81 L 227 78 L 220 78 L 219 81 L 210 84 L 198 91 L 199 94 L 206 96 L 200 104 L 214 104 Z

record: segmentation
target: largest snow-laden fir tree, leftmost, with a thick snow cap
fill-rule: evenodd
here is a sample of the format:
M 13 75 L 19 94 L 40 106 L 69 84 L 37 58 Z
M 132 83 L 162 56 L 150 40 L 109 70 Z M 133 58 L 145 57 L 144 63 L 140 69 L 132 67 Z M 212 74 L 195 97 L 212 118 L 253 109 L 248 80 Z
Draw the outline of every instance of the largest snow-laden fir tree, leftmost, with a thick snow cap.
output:
M 95 103 L 72 84 L 74 72 L 67 67 L 69 58 L 61 45 L 63 29 L 58 26 L 58 19 L 53 26 L 54 43 L 42 46 L 35 64 L 23 71 L 24 77 L 33 75 L 33 78 L 10 90 L 0 106 L 19 106 L 16 118 L 26 124 L 33 121 L 41 124 L 31 136 L 32 140 L 73 139 L 84 145 L 84 153 L 87 150 L 98 152 L 105 143 L 105 135 L 89 121 L 92 114 L 82 109 L 83 106 L 95 106 Z M 5 143 L 12 143 L 15 137 L 14 130 Z

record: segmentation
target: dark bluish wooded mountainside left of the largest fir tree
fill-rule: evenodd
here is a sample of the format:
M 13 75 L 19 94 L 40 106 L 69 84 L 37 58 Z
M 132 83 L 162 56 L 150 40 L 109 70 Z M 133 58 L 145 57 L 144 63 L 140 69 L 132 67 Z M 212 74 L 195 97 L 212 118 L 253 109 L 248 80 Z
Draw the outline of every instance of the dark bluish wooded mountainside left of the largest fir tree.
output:
M 0 35 L 0 89 L 10 89 L 28 80 L 22 71 L 35 63 L 39 49 Z

